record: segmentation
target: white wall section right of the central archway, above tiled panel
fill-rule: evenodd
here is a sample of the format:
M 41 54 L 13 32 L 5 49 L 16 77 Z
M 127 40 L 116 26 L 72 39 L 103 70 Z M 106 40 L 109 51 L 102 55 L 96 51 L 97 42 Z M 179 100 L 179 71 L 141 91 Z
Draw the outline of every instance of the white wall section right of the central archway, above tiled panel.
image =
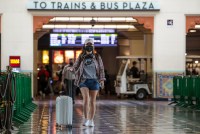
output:
M 154 18 L 153 66 L 155 72 L 184 72 L 186 51 L 186 14 L 200 14 L 198 0 L 160 0 Z M 167 19 L 174 25 L 167 26 Z

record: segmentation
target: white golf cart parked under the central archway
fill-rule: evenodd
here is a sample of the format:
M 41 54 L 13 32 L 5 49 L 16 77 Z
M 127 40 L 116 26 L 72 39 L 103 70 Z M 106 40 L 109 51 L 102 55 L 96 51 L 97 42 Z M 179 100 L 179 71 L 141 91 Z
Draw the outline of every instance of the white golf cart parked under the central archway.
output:
M 115 91 L 118 97 L 122 97 L 123 95 L 134 95 L 136 99 L 143 100 L 147 95 L 152 94 L 149 89 L 151 86 L 147 79 L 147 73 L 145 73 L 144 70 L 141 70 L 141 61 L 143 60 L 145 61 L 147 72 L 147 60 L 151 59 L 151 57 L 117 56 L 116 58 L 121 59 L 120 69 L 115 81 Z M 132 76 L 128 74 L 128 65 L 131 60 L 138 60 L 140 62 L 139 78 L 132 78 Z

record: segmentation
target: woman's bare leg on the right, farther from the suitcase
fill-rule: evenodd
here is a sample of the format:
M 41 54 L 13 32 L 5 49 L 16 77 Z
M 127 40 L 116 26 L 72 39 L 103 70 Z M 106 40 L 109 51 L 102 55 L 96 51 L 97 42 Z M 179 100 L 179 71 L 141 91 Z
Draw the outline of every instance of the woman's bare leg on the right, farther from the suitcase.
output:
M 93 120 L 95 112 L 96 112 L 96 97 L 98 94 L 98 90 L 90 90 L 90 120 Z

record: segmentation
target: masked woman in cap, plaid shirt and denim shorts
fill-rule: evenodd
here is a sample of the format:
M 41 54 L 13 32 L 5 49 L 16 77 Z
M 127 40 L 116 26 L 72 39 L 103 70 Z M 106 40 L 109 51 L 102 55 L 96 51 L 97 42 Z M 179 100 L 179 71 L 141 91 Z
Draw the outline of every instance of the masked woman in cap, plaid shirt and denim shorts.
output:
M 76 74 L 74 84 L 83 96 L 84 126 L 94 127 L 96 96 L 100 87 L 104 86 L 104 66 L 100 55 L 94 53 L 93 39 L 86 39 L 82 53 L 73 65 Z

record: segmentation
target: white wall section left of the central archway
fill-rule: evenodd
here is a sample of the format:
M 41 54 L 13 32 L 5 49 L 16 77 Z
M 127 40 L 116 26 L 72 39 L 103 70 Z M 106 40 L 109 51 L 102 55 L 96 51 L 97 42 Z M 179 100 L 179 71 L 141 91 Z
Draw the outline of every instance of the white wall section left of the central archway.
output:
M 25 9 L 25 0 L 0 0 L 1 15 L 1 66 L 9 65 L 9 56 L 21 57 L 21 70 L 33 70 L 33 21 Z

